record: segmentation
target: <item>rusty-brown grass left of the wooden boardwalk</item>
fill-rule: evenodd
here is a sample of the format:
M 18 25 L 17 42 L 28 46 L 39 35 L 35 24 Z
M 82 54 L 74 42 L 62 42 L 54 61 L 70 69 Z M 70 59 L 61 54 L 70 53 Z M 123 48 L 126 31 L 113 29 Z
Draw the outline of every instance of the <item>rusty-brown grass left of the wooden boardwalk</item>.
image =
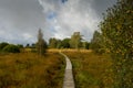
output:
M 58 53 L 0 55 L 0 88 L 62 88 L 64 59 Z

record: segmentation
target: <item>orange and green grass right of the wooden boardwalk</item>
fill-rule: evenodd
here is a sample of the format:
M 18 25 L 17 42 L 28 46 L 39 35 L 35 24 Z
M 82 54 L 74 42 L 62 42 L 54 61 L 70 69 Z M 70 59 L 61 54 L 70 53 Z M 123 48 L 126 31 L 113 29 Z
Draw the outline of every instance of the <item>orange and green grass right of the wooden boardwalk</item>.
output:
M 65 52 L 72 64 L 76 88 L 112 88 L 112 61 L 92 52 Z

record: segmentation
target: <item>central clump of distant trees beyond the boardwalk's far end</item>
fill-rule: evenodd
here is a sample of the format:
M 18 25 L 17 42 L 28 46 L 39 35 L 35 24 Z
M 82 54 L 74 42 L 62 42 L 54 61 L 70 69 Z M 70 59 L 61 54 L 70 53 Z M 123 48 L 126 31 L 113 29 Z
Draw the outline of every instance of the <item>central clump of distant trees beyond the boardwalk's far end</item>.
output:
M 74 32 L 71 38 L 58 40 L 52 37 L 49 40 L 49 48 L 84 48 L 89 50 L 89 42 L 83 42 L 80 32 Z

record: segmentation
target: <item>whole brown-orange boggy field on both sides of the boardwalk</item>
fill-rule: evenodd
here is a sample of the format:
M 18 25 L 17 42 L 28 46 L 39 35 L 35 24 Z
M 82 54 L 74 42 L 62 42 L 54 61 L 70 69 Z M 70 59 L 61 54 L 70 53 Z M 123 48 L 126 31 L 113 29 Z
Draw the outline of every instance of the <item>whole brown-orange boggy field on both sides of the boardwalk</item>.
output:
M 59 52 L 59 51 L 58 51 Z M 0 88 L 62 88 L 65 61 L 58 52 L 0 55 Z M 112 88 L 112 61 L 93 52 L 66 52 L 75 88 Z

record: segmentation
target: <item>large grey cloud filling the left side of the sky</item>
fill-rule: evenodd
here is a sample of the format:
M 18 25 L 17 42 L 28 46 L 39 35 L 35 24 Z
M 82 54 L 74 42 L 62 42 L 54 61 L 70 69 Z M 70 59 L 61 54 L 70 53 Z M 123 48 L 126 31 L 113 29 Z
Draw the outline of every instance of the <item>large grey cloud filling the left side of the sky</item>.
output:
M 35 42 L 39 28 L 44 28 L 42 10 L 38 0 L 0 0 L 0 42 Z M 25 37 L 24 34 L 33 37 Z

